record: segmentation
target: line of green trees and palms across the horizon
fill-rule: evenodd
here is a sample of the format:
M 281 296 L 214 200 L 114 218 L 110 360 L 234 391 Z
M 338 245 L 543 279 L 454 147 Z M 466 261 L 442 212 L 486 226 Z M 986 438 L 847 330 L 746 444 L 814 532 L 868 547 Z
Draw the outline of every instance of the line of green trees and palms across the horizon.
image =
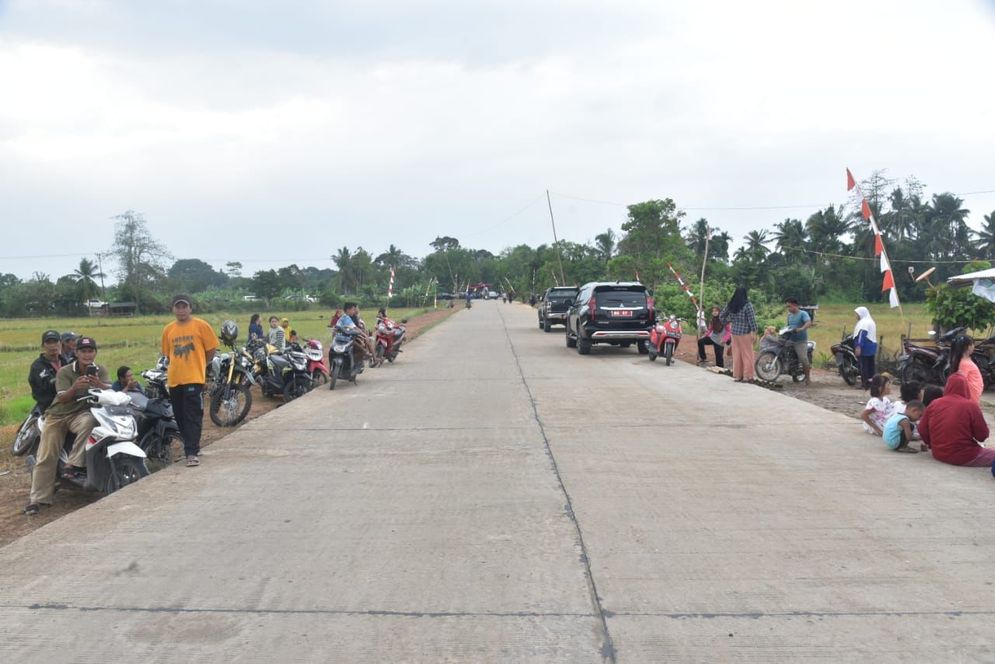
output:
M 923 300 L 926 290 L 907 271 L 936 267 L 933 282 L 965 271 L 969 261 L 995 257 L 995 211 L 984 215 L 980 230 L 967 225 L 969 210 L 955 194 L 927 195 L 915 178 L 901 183 L 874 173 L 862 189 L 884 234 L 899 294 Z M 878 302 L 881 274 L 874 258 L 874 237 L 855 204 L 830 205 L 804 218 L 785 218 L 735 238 L 706 218 L 688 220 L 671 198 L 627 206 L 619 232 L 607 229 L 593 240 L 560 240 L 532 247 L 519 244 L 498 254 L 464 246 L 458 238 L 436 237 L 429 253 L 417 258 L 389 245 L 381 253 L 360 246 L 329 255 L 334 268 L 298 266 L 243 274 L 238 261 L 216 269 L 197 258 L 174 260 L 149 231 L 144 217 L 127 211 L 115 219 L 113 246 L 101 257 L 115 265 L 102 273 L 102 260 L 83 258 L 70 274 L 53 280 L 35 273 L 27 280 L 0 275 L 0 315 L 73 315 L 85 313 L 92 298 L 127 301 L 140 312 L 168 309 L 174 291 L 198 299 L 201 310 L 258 308 L 248 296 L 279 301 L 281 308 L 341 305 L 344 298 L 383 304 L 394 270 L 392 304 L 416 306 L 436 295 L 459 293 L 468 284 L 488 283 L 527 299 L 557 284 L 597 279 L 639 279 L 654 289 L 667 310 L 693 313 L 670 266 L 695 286 L 704 269 L 705 304 L 722 302 L 743 284 L 763 303 L 789 295 L 803 302 L 819 299 Z M 978 267 L 971 265 L 971 269 Z

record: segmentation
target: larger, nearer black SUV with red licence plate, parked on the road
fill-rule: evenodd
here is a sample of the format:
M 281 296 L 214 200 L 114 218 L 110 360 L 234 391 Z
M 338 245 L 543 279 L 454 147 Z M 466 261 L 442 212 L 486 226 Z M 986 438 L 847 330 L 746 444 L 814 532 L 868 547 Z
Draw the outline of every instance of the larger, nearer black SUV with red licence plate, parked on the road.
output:
M 635 341 L 640 354 L 655 324 L 653 298 L 636 281 L 592 281 L 580 287 L 567 313 L 567 348 L 581 355 L 593 344 L 627 348 Z

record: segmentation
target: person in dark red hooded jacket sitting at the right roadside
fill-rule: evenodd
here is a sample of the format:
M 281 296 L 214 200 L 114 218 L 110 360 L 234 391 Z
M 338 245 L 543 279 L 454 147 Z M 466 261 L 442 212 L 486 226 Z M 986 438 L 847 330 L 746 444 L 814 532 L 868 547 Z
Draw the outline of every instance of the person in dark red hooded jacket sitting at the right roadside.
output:
M 943 396 L 926 408 L 919 420 L 919 435 L 937 461 L 955 466 L 995 463 L 995 450 L 978 444 L 988 438 L 988 425 L 960 374 L 950 374 Z

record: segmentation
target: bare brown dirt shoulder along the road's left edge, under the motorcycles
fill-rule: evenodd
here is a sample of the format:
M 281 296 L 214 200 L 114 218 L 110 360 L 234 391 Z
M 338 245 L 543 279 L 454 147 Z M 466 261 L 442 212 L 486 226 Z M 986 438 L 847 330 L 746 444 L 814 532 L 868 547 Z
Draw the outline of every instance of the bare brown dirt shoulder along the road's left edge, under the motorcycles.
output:
M 412 318 L 406 323 L 408 341 L 413 341 L 459 310 L 455 308 L 438 309 Z M 403 355 L 399 361 L 403 361 Z M 385 364 L 383 369 L 375 371 L 389 371 L 389 366 Z M 245 418 L 246 422 L 254 420 L 282 404 L 279 399 L 263 397 L 258 391 L 254 391 L 252 396 L 252 408 Z M 224 438 L 236 429 L 237 427 L 229 429 L 215 426 L 211 422 L 211 418 L 205 415 L 201 446 L 210 447 L 211 443 Z M 22 514 L 21 510 L 28 502 L 28 493 L 31 489 L 31 474 L 25 466 L 24 459 L 15 457 L 10 453 L 10 444 L 16 430 L 16 426 L 0 428 L 0 547 L 44 526 L 46 523 L 99 500 L 101 495 L 63 487 L 56 494 L 55 504 L 52 507 L 42 510 L 36 516 L 29 517 Z M 209 459 L 210 451 L 205 456 Z

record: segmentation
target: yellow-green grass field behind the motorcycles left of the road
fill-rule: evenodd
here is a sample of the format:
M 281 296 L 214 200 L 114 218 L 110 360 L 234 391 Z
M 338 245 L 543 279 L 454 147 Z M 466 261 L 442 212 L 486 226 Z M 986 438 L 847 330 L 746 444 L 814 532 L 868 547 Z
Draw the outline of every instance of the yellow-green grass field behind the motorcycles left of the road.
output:
M 425 309 L 391 309 L 391 318 L 400 320 Z M 269 314 L 263 314 L 268 317 Z M 301 338 L 317 338 L 327 346 L 328 312 L 295 311 L 276 313 L 290 319 L 290 325 Z M 376 311 L 362 312 L 369 324 Z M 249 329 L 246 314 L 212 313 L 201 316 L 215 330 L 229 318 L 238 322 L 239 338 L 245 340 Z M 17 318 L 0 321 L 0 425 L 19 422 L 31 410 L 34 400 L 28 387 L 28 368 L 41 352 L 41 333 L 51 328 L 71 330 L 92 336 L 100 349 L 97 364 L 107 367 L 111 376 L 121 365 L 137 372 L 149 369 L 159 358 L 162 328 L 172 316 L 136 316 L 134 318 Z M 263 328 L 268 329 L 263 321 Z

